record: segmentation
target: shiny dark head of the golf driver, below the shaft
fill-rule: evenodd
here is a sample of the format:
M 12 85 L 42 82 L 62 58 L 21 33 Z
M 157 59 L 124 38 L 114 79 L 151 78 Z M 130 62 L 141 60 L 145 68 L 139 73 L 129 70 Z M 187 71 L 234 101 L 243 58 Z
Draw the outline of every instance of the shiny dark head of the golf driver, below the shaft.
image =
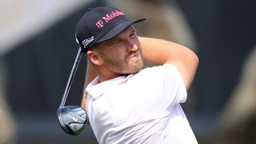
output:
M 67 134 L 77 135 L 86 126 L 87 114 L 80 106 L 63 106 L 57 110 L 58 122 Z

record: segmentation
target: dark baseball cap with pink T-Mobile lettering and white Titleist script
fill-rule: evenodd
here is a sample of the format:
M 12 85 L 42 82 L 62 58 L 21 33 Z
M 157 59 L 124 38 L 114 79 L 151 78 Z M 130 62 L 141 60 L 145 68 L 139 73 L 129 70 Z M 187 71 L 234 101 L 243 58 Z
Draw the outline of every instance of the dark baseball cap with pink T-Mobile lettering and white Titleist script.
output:
M 145 18 L 128 19 L 126 14 L 114 7 L 101 6 L 90 9 L 79 19 L 75 37 L 83 52 L 95 43 L 106 41 L 120 34 L 128 26 Z

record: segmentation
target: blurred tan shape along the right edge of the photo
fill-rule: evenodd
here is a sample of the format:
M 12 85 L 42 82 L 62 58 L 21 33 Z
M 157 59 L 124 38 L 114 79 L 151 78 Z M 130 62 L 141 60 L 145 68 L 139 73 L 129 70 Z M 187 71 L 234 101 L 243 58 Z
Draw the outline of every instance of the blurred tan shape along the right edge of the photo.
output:
M 256 143 L 256 46 L 219 121 L 218 143 Z

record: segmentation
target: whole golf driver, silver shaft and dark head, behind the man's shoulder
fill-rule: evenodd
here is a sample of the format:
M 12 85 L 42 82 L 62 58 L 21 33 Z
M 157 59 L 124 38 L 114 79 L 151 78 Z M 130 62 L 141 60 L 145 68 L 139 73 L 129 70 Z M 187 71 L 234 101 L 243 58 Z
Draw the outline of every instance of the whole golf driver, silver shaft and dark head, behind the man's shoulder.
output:
M 62 127 L 62 130 L 64 130 L 67 134 L 71 135 L 80 134 L 82 130 L 85 128 L 87 120 L 86 110 L 83 110 L 82 107 L 64 106 L 81 58 L 82 50 L 81 48 L 79 48 L 78 54 L 74 60 L 74 65 L 70 72 L 70 78 L 68 79 L 68 82 L 66 84 L 66 89 L 63 94 L 62 103 L 60 104 L 57 110 L 58 122 Z

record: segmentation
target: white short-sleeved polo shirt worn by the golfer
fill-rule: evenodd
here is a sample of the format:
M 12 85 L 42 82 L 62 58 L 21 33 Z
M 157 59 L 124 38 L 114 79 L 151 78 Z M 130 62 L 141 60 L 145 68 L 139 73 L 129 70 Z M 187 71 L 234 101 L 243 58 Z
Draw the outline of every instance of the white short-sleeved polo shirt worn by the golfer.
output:
M 99 143 L 198 143 L 179 103 L 186 87 L 172 65 L 86 87 L 87 114 Z

